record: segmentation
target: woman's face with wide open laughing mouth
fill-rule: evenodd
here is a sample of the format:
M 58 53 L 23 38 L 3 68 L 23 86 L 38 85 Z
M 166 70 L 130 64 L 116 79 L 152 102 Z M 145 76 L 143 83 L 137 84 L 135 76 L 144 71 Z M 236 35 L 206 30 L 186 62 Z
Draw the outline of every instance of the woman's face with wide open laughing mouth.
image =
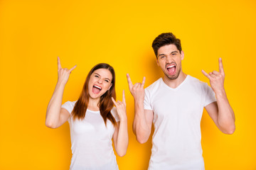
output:
M 96 69 L 90 76 L 88 91 L 91 98 L 100 98 L 112 86 L 112 74 L 108 69 Z

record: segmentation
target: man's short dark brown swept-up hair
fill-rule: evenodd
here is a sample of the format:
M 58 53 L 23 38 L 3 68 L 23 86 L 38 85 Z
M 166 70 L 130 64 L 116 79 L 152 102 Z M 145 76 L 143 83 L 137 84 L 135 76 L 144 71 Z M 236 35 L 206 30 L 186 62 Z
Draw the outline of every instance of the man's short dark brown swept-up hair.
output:
M 157 51 L 159 50 L 159 48 L 163 47 L 164 45 L 171 45 L 171 44 L 176 45 L 178 51 L 181 52 L 181 40 L 176 38 L 173 33 L 161 33 L 160 35 L 158 35 L 152 43 L 152 47 L 156 55 L 156 59 L 157 59 Z

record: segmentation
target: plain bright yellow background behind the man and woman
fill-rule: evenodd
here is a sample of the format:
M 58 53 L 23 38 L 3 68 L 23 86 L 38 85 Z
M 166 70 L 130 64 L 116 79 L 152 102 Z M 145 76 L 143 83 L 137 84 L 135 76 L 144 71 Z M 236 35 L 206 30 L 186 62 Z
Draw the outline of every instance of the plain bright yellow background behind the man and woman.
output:
M 256 169 L 256 2 L 244 1 L 0 1 L 0 169 L 69 169 L 69 125 L 46 128 L 46 108 L 63 67 L 78 67 L 63 103 L 75 101 L 89 70 L 99 62 L 117 74 L 117 98 L 127 96 L 129 147 L 119 169 L 146 169 L 151 140 L 132 133 L 134 103 L 126 73 L 145 86 L 161 76 L 151 42 L 160 33 L 181 39 L 183 71 L 208 82 L 201 69 L 218 70 L 223 58 L 225 90 L 236 117 L 224 135 L 203 113 L 206 170 Z M 209 83 L 209 82 L 208 82 Z

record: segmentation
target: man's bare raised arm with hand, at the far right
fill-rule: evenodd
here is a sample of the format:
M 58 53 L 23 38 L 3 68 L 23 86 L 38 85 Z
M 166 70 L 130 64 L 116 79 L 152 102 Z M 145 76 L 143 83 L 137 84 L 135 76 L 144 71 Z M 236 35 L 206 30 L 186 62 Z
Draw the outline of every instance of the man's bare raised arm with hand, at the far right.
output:
M 219 72 L 213 71 L 207 74 L 202 70 L 202 73 L 210 80 L 210 87 L 215 92 L 217 99 L 217 102 L 210 103 L 205 107 L 206 111 L 221 132 L 225 134 L 233 134 L 233 132 L 235 132 L 235 114 L 225 93 L 225 73 L 221 58 L 219 58 Z

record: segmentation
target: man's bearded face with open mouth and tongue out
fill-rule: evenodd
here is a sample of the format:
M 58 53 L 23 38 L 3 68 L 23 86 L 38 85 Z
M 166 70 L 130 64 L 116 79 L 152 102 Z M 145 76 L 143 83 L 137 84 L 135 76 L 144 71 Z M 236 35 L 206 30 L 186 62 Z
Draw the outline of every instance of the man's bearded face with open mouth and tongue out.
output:
M 157 64 L 163 70 L 168 79 L 177 79 L 181 72 L 181 60 L 184 58 L 183 51 L 179 52 L 176 45 L 164 45 L 157 52 Z

